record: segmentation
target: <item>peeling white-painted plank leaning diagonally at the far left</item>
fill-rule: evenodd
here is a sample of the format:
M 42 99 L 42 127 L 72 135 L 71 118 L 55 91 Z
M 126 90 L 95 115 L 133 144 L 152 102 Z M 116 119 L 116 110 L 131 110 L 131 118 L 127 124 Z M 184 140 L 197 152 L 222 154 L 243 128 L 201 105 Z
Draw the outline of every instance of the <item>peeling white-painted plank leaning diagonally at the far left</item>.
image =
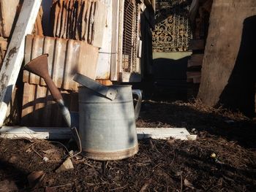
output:
M 0 126 L 4 123 L 8 104 L 12 98 L 20 66 L 23 61 L 26 34 L 31 33 L 34 27 L 41 1 L 28 0 L 23 2 L 20 15 L 10 40 L 7 56 L 0 72 Z

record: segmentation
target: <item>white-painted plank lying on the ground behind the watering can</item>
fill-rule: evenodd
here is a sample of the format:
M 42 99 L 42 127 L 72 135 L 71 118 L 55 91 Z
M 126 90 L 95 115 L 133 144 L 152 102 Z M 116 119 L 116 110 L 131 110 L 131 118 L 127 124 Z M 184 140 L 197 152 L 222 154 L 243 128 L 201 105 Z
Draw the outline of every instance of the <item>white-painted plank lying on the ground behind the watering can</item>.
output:
M 138 139 L 182 139 L 195 140 L 196 135 L 191 135 L 186 128 L 136 128 Z M 69 128 L 46 127 L 7 127 L 0 129 L 0 137 L 14 139 L 26 137 L 29 139 L 69 139 L 72 136 Z

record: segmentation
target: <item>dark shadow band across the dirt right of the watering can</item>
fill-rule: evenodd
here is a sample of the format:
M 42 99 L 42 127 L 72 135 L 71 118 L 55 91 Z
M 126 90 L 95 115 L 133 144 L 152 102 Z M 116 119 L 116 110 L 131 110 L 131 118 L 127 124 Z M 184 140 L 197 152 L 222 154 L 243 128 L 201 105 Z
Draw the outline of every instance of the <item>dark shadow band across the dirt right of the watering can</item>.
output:
M 185 127 L 199 137 L 224 137 L 244 147 L 256 147 L 256 124 L 242 115 L 218 112 L 184 102 L 144 101 L 138 127 Z

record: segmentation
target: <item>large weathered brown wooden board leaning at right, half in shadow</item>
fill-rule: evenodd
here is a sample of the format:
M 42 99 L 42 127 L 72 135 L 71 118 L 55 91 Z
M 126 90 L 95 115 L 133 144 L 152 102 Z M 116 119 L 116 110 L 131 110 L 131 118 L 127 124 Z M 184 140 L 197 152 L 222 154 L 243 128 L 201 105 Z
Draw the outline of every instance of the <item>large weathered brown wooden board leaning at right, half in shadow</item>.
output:
M 197 98 L 252 115 L 255 104 L 256 1 L 214 0 Z

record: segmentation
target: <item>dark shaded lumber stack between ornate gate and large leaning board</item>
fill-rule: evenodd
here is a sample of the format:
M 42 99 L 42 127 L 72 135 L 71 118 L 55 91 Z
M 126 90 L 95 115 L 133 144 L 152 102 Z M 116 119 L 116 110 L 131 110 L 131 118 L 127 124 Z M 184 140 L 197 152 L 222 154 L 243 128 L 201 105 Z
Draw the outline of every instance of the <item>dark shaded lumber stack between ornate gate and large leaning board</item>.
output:
M 192 55 L 187 64 L 187 82 L 200 83 L 212 0 L 194 0 L 193 3 L 195 6 L 190 14 L 194 30 L 189 44 Z

